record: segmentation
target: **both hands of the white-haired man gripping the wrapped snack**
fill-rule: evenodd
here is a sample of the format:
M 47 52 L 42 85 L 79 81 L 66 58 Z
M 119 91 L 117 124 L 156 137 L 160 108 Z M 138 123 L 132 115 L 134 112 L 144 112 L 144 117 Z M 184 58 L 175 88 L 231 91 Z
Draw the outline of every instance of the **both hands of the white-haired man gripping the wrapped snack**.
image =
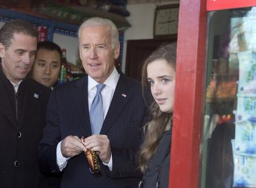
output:
M 61 142 L 61 153 L 66 158 L 76 156 L 81 152 L 85 152 L 86 148 L 96 151 L 102 162 L 108 163 L 111 157 L 110 141 L 108 136 L 94 134 L 85 140 L 85 145 L 77 136 L 67 136 Z

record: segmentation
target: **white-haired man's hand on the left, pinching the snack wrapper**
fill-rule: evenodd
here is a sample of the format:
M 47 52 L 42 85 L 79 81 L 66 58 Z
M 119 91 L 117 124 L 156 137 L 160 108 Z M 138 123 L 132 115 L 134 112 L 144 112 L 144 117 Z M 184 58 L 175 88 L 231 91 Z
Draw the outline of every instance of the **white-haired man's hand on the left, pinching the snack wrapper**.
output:
M 86 147 L 77 136 L 67 136 L 61 142 L 61 153 L 66 158 L 76 156 L 82 151 L 86 151 Z

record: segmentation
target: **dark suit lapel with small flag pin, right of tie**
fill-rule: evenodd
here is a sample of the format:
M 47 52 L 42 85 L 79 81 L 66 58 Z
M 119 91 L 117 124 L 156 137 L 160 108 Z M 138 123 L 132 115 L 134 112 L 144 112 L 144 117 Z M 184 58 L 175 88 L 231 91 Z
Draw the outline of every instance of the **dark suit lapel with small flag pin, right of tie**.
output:
M 123 109 L 125 109 L 133 95 L 131 87 L 132 85 L 127 81 L 125 75 L 121 74 L 100 134 L 106 134 L 111 126 L 115 124 Z

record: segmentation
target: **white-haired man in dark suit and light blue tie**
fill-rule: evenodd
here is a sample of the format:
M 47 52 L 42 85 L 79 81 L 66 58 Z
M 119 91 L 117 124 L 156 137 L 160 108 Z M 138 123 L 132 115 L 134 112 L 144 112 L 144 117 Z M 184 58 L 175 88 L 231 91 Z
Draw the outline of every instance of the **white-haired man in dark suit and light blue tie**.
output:
M 40 169 L 62 172 L 61 187 L 137 187 L 141 174 L 135 156 L 147 113 L 140 84 L 115 68 L 120 44 L 112 21 L 88 19 L 78 34 L 88 76 L 52 91 L 40 142 Z M 92 122 L 100 115 L 90 115 L 99 83 L 104 84 L 100 92 L 104 122 L 97 132 Z M 82 136 L 86 136 L 84 144 Z M 97 175 L 90 173 L 87 148 L 98 155 L 101 171 Z

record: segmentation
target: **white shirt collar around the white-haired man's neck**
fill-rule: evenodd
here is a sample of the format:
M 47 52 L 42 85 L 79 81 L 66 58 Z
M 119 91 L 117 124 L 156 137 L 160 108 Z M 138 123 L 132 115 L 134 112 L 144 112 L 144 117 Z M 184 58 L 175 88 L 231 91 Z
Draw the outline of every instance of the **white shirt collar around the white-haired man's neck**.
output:
M 117 69 L 114 68 L 111 75 L 109 75 L 108 79 L 104 81 L 104 84 L 115 90 L 115 88 L 117 87 L 119 77 L 120 74 L 117 72 Z M 94 79 L 92 79 L 92 77 L 90 77 L 90 75 L 88 75 L 88 91 L 93 89 L 97 84 L 98 82 L 96 82 Z

